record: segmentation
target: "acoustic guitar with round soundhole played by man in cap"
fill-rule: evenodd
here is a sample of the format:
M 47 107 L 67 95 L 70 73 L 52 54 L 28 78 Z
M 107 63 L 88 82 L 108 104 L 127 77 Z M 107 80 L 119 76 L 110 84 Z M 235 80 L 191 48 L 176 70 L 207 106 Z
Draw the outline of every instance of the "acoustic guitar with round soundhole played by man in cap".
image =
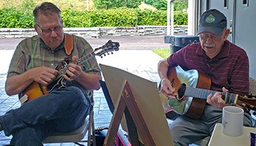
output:
M 206 106 L 207 96 L 217 92 L 208 90 L 211 88 L 211 78 L 205 74 L 200 74 L 195 69 L 184 71 L 180 66 L 168 69 L 167 77 L 178 95 L 176 99 L 168 99 L 163 93 L 160 93 L 165 112 L 174 111 L 190 118 L 200 118 Z M 227 104 L 238 104 L 241 107 L 256 110 L 255 96 L 222 93 L 222 99 Z

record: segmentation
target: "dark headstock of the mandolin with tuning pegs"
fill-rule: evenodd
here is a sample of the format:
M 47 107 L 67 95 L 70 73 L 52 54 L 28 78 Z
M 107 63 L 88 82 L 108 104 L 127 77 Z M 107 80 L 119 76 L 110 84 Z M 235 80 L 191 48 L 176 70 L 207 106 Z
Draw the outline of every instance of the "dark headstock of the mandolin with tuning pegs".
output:
M 118 50 L 119 50 L 119 42 L 112 42 L 111 40 L 109 40 L 102 47 L 96 48 L 94 50 L 94 54 L 102 57 L 102 55 L 105 55 L 105 53 L 109 54 L 110 52 L 113 54 L 113 51 L 118 51 Z

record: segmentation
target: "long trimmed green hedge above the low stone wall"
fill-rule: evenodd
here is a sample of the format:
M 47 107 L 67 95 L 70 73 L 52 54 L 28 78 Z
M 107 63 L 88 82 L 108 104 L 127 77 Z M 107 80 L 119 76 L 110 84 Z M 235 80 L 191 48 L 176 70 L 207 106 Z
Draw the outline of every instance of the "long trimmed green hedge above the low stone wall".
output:
M 0 28 L 33 28 L 33 10 L 16 8 L 0 9 Z M 64 27 L 136 27 L 166 26 L 167 13 L 163 10 L 152 11 L 138 8 L 99 9 L 78 11 L 61 9 Z M 187 25 L 187 13 L 174 12 L 174 25 Z

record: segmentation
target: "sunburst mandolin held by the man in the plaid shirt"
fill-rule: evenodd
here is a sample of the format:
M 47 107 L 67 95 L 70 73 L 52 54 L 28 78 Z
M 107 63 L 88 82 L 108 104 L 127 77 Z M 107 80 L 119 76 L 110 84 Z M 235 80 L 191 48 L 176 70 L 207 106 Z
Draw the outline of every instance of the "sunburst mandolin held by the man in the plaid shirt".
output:
M 119 43 L 109 40 L 102 47 L 97 47 L 92 53 L 79 58 L 78 61 L 76 61 L 74 64 L 80 65 L 95 55 L 102 57 L 102 55 L 105 55 L 105 53 L 109 54 L 109 52 L 113 53 L 113 51 L 117 50 L 119 50 Z M 55 88 L 65 88 L 67 80 L 64 79 L 63 75 L 67 73 L 68 68 L 68 62 L 61 61 L 61 65 L 56 66 L 56 69 L 59 70 L 58 74 L 56 75 L 56 79 L 53 80 L 53 82 L 51 82 L 48 86 L 43 86 L 38 82 L 32 82 L 22 93 L 20 93 L 20 103 L 23 104 L 25 101 L 30 101 L 32 99 L 36 99 L 39 96 L 48 94 Z

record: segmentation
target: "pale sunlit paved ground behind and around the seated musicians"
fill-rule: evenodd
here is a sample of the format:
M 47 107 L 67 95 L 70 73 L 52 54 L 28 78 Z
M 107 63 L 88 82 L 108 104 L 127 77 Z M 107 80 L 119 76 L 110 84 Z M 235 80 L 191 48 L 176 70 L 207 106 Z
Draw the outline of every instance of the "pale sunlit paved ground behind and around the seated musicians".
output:
M 140 42 L 139 38 L 138 42 Z M 154 37 L 151 37 L 154 39 Z M 164 37 L 162 37 L 162 43 Z M 143 39 L 142 39 L 143 40 Z M 94 40 L 95 41 L 95 40 Z M 113 39 L 113 41 L 115 41 Z M 0 41 L 1 42 L 1 41 Z M 90 42 L 90 41 L 89 41 Z M 136 42 L 136 41 L 134 41 Z M 144 44 L 143 44 L 144 43 Z M 138 43 L 137 47 L 140 48 L 140 45 L 148 45 L 143 43 Z M 102 43 L 103 44 L 103 43 Z M 161 43 L 159 43 L 161 44 Z M 128 44 L 124 44 L 125 46 Z M 131 43 L 132 47 L 136 46 L 135 43 Z M 157 43 L 154 43 L 155 48 L 157 47 Z M 95 44 L 92 45 L 96 46 Z M 148 45 L 152 48 L 152 45 Z M 167 45 L 165 45 L 167 46 Z M 120 43 L 120 48 L 122 47 L 122 43 Z M 128 48 L 128 47 L 127 47 Z M 4 82 L 6 80 L 6 72 L 9 67 L 10 59 L 12 57 L 13 49 L 10 50 L 0 50 L 0 115 L 4 115 L 7 110 L 14 109 L 20 107 L 20 103 L 18 101 L 18 96 L 7 96 L 4 91 Z M 113 55 L 107 55 L 103 58 L 97 57 L 97 61 L 99 64 L 106 64 L 110 66 L 118 67 L 119 69 L 124 69 L 127 72 L 131 72 L 140 77 L 144 77 L 148 80 L 158 82 L 159 77 L 157 74 L 157 63 L 162 58 L 159 55 L 153 53 L 151 49 L 143 49 L 143 50 L 118 50 L 113 53 Z M 108 126 L 111 120 L 111 113 L 108 109 L 108 104 L 105 100 L 105 96 L 102 93 L 102 90 L 94 92 L 94 121 L 95 127 L 99 126 Z M 0 145 L 8 145 L 10 143 L 11 137 L 5 137 L 3 131 L 0 132 Z M 70 144 L 51 144 L 51 145 L 74 145 Z

